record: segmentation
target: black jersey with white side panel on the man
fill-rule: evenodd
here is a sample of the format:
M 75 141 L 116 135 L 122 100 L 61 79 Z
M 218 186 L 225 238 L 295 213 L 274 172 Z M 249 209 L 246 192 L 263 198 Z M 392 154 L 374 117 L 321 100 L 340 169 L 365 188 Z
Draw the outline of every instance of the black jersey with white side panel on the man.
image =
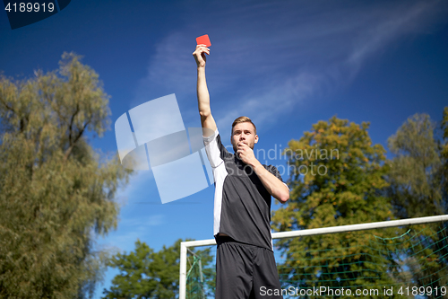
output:
M 237 242 L 272 251 L 271 194 L 254 170 L 222 145 L 218 129 L 203 141 L 215 180 L 215 237 L 225 233 Z M 281 180 L 275 166 L 263 166 Z

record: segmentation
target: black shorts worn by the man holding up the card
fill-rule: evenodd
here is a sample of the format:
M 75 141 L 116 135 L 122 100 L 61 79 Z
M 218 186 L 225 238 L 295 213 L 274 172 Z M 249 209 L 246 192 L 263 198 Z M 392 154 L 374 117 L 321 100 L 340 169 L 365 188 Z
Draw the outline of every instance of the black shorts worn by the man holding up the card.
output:
M 215 299 L 279 299 L 279 273 L 268 249 L 218 236 Z

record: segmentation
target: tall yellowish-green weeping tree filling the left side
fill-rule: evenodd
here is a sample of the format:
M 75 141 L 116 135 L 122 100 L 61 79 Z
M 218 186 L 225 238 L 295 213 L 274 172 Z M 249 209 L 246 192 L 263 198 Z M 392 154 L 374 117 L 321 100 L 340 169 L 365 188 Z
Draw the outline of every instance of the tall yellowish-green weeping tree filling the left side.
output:
M 0 297 L 93 294 L 106 258 L 94 237 L 116 227 L 130 174 L 86 136 L 109 114 L 99 75 L 73 53 L 46 75 L 0 76 Z

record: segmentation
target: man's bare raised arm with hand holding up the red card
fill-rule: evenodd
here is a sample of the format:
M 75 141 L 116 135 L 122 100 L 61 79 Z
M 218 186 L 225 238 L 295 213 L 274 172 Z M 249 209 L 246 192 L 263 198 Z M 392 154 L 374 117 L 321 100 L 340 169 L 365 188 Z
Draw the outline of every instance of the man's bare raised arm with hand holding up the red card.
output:
M 197 45 L 193 52 L 197 65 L 197 102 L 199 115 L 201 115 L 202 135 L 207 137 L 216 131 L 215 119 L 211 116 L 210 94 L 205 81 L 205 54 L 210 55 L 210 48 Z

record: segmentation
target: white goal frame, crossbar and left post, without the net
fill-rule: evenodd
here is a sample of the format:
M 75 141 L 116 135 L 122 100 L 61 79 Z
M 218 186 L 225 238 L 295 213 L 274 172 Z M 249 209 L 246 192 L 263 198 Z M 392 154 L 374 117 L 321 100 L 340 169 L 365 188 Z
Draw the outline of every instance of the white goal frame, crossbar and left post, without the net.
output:
M 312 228 L 299 231 L 272 233 L 272 239 L 298 237 L 304 235 L 317 235 L 326 233 L 347 233 L 355 231 L 373 230 L 376 228 L 396 227 L 412 224 L 430 224 L 448 221 L 448 215 L 435 215 L 429 217 L 409 218 L 400 220 L 390 220 L 383 222 L 373 222 L 368 224 L 351 224 L 323 228 Z M 215 239 L 188 241 L 180 243 L 180 277 L 179 277 L 179 299 L 185 299 L 186 293 L 186 251 L 189 247 L 201 247 L 216 245 Z

